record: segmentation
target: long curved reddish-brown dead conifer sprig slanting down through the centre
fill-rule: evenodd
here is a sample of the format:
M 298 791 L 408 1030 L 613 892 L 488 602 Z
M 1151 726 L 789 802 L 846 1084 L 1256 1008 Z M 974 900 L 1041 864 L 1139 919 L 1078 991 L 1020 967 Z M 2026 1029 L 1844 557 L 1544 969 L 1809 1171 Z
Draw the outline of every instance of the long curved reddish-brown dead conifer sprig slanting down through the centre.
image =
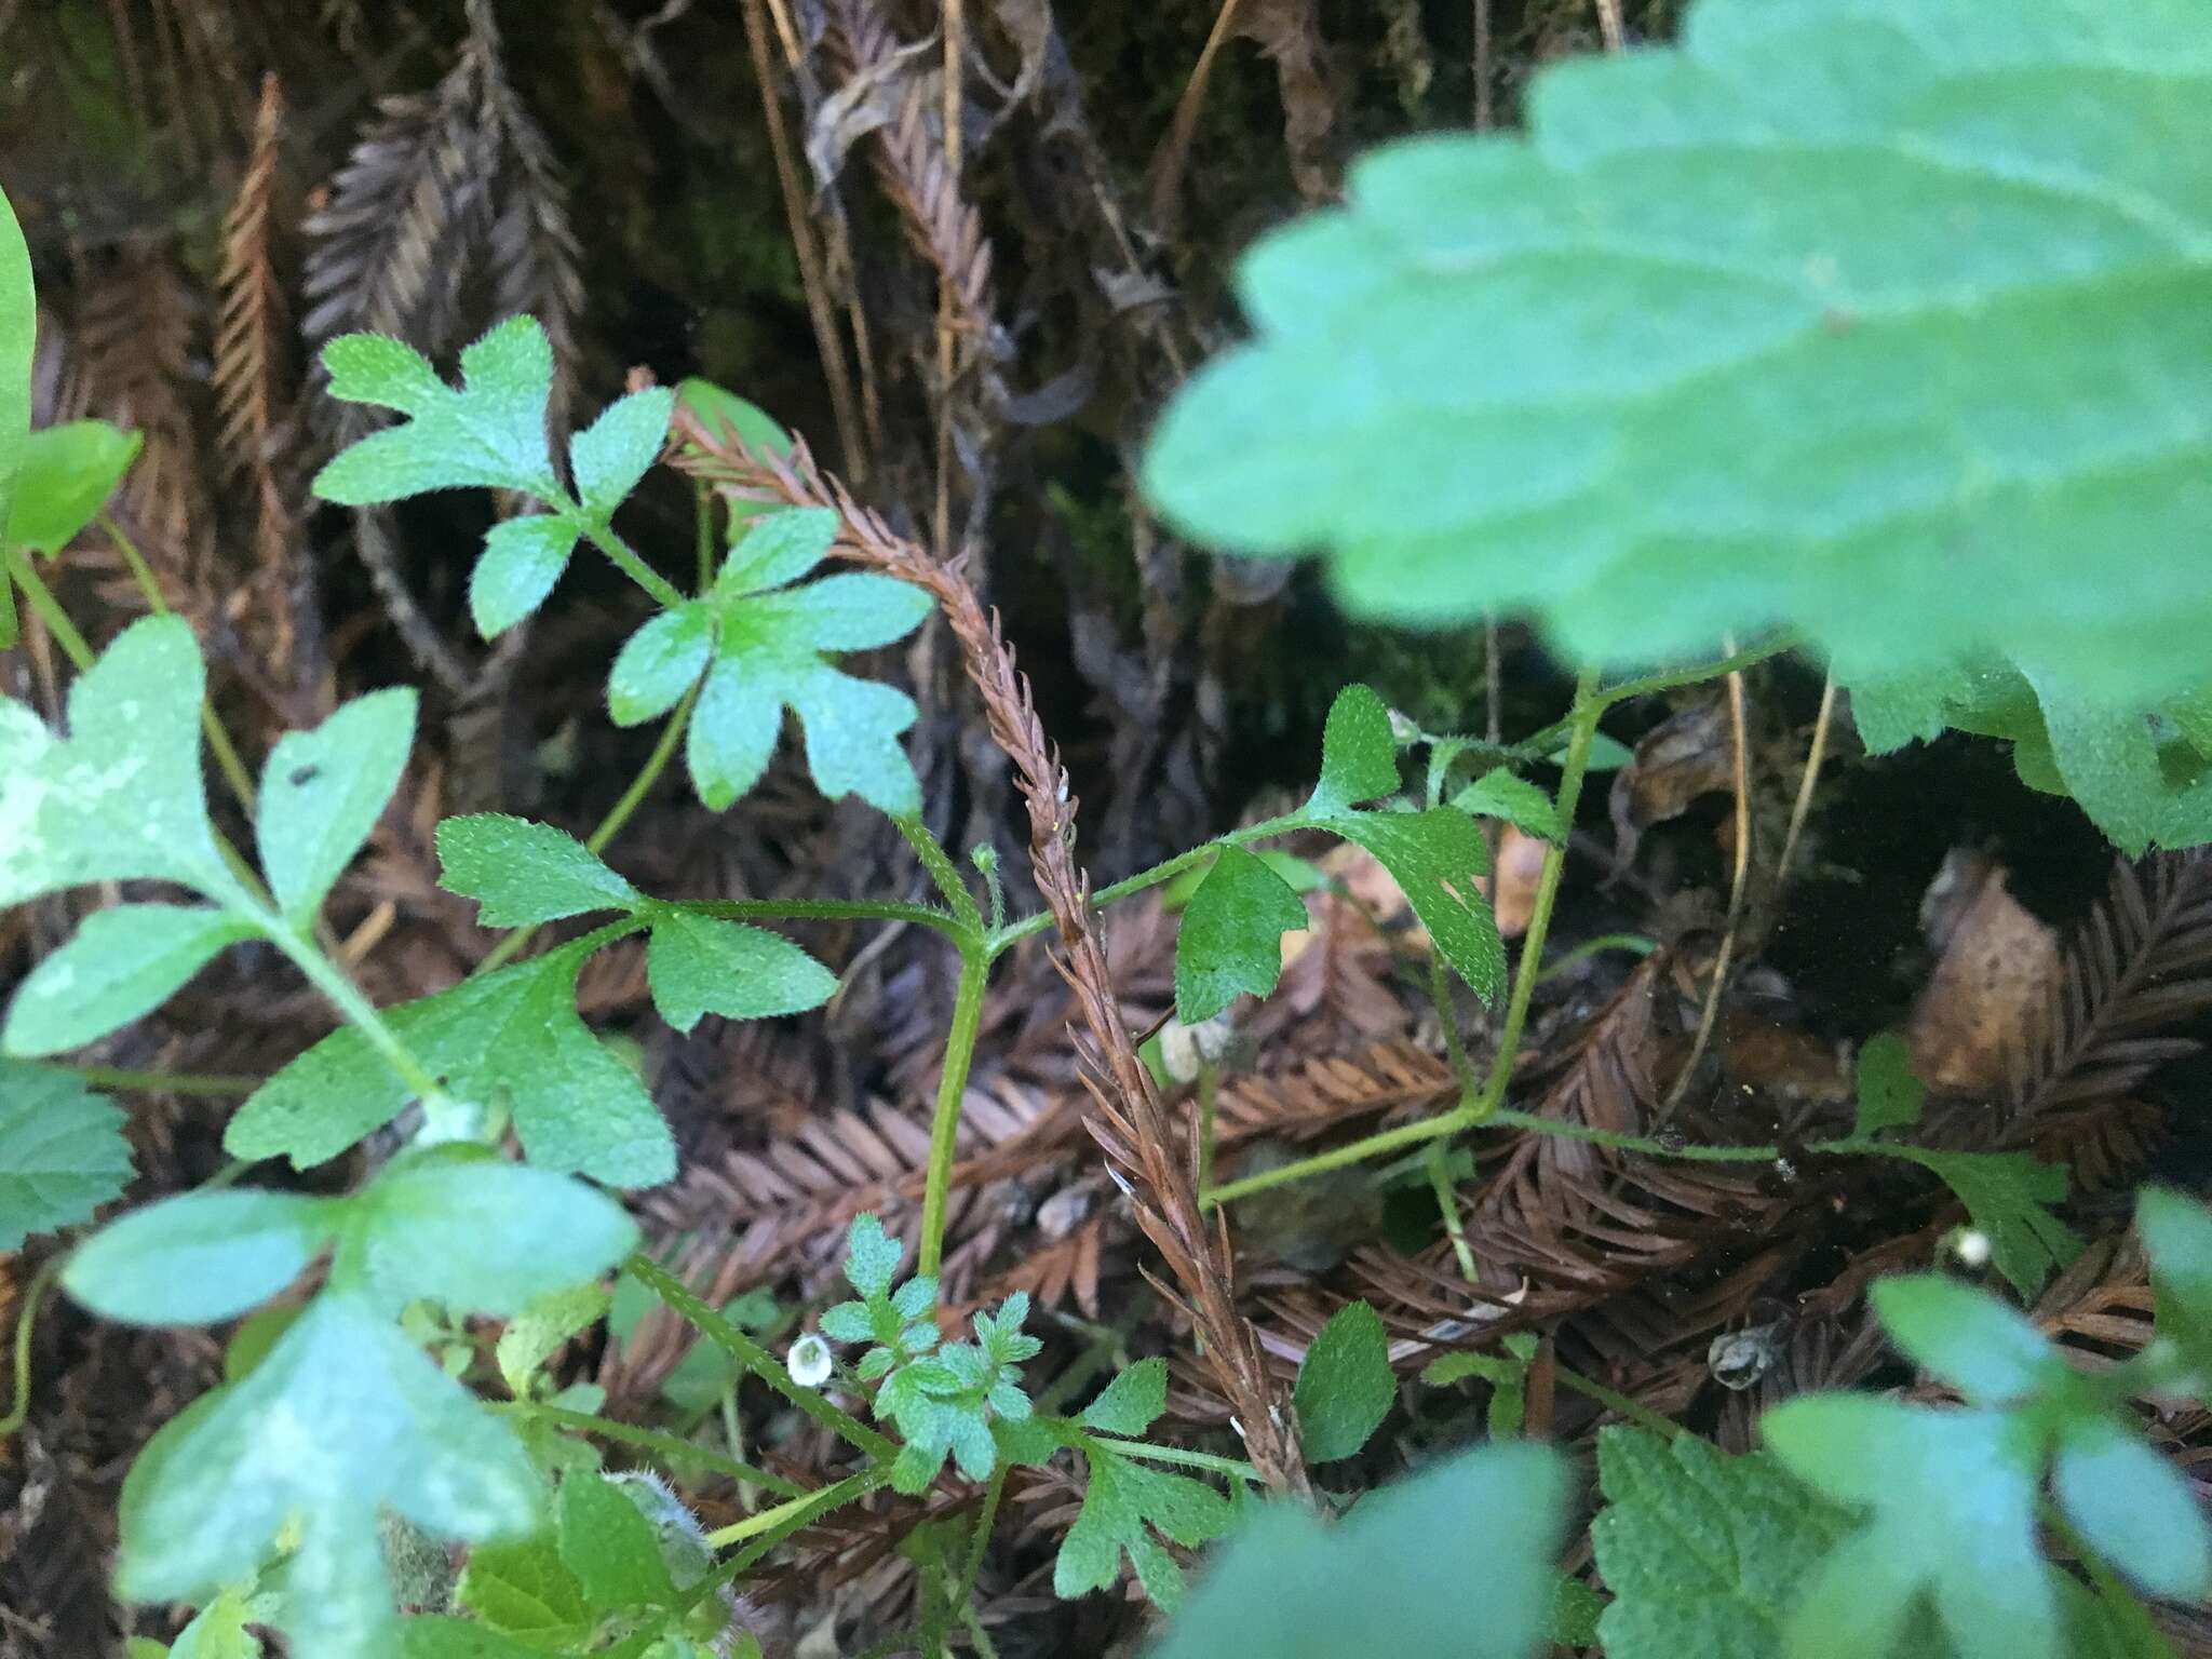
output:
M 1225 1217 L 1208 1228 L 1199 1210 L 1197 1146 L 1177 1135 L 1152 1073 L 1113 993 L 1106 947 L 1091 911 L 1091 883 L 1075 863 L 1075 796 L 1068 774 L 1044 737 L 1029 695 L 1029 679 L 1013 666 L 995 613 L 987 613 L 958 568 L 896 535 L 827 478 L 796 445 L 787 460 L 748 451 L 677 414 L 677 465 L 712 484 L 752 500 L 830 507 L 843 520 L 834 553 L 929 591 L 967 657 L 969 679 L 982 697 L 991 741 L 1013 763 L 1029 805 L 1029 856 L 1037 891 L 1060 936 L 1060 971 L 1084 1011 L 1088 1040 L 1077 1040 L 1084 1086 L 1091 1091 L 1091 1137 L 1106 1152 L 1108 1172 L 1128 1192 L 1137 1225 L 1152 1241 L 1181 1285 L 1181 1296 L 1152 1283 L 1197 1327 L 1208 1369 L 1237 1416 L 1245 1455 L 1270 1486 L 1307 1493 L 1298 1429 L 1279 1387 L 1267 1376 L 1259 1334 L 1237 1312 L 1234 1254 Z M 1181 1141 L 1181 1146 L 1177 1146 Z M 1150 1274 L 1148 1274 L 1150 1276 Z

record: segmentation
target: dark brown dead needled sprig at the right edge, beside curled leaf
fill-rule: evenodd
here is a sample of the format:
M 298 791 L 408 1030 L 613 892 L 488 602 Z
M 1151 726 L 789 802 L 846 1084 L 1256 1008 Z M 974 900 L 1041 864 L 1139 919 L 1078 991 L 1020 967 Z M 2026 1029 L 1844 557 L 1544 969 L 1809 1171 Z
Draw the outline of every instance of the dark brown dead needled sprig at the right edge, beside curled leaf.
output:
M 2006 1097 L 2006 1139 L 2035 1141 L 2132 1095 L 2194 1037 L 2159 1035 L 2212 1009 L 2212 856 L 2115 863 L 2112 885 L 2066 947 L 2039 1042 Z

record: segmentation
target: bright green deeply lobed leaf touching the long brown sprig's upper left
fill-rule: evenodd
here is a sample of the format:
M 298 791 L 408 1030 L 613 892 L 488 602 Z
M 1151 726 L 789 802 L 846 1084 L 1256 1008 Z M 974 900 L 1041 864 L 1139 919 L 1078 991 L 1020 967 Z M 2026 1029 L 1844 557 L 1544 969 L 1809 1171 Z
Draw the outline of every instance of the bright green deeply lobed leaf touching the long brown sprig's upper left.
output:
M 807 770 L 825 796 L 858 794 L 894 816 L 920 810 L 920 783 L 898 745 L 914 723 L 914 699 L 832 668 L 827 655 L 911 633 L 931 599 L 885 575 L 779 586 L 814 568 L 834 535 L 830 509 L 754 520 L 714 582 L 721 641 L 692 714 L 686 761 L 699 799 L 717 812 L 768 768 L 783 708 L 799 714 Z

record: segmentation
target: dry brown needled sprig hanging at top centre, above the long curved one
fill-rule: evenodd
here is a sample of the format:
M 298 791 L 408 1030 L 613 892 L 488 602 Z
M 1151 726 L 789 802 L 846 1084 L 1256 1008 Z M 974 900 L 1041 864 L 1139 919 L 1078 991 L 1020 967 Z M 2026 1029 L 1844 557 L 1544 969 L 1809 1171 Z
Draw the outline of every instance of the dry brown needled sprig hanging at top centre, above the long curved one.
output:
M 898 208 L 914 252 L 938 272 L 953 325 L 987 343 L 991 243 L 982 234 L 982 215 L 960 195 L 960 179 L 945 159 L 942 117 L 927 73 L 916 69 L 918 53 L 898 40 L 885 11 L 869 0 L 832 0 L 834 35 L 847 71 L 847 84 L 832 95 L 832 104 L 865 102 L 885 117 L 869 135 L 876 179 Z M 816 173 L 823 173 L 818 159 Z

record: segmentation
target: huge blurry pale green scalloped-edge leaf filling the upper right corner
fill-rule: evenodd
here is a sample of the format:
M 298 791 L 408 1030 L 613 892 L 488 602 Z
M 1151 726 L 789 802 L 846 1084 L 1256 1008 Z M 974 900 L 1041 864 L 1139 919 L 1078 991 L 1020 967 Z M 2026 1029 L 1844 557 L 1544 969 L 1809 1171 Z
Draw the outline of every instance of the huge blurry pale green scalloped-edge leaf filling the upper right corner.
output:
M 1703 0 L 1526 137 L 1425 137 L 1241 272 L 1168 409 L 1190 535 L 1579 659 L 1794 624 L 2084 695 L 2212 626 L 2212 31 L 2194 0 Z

